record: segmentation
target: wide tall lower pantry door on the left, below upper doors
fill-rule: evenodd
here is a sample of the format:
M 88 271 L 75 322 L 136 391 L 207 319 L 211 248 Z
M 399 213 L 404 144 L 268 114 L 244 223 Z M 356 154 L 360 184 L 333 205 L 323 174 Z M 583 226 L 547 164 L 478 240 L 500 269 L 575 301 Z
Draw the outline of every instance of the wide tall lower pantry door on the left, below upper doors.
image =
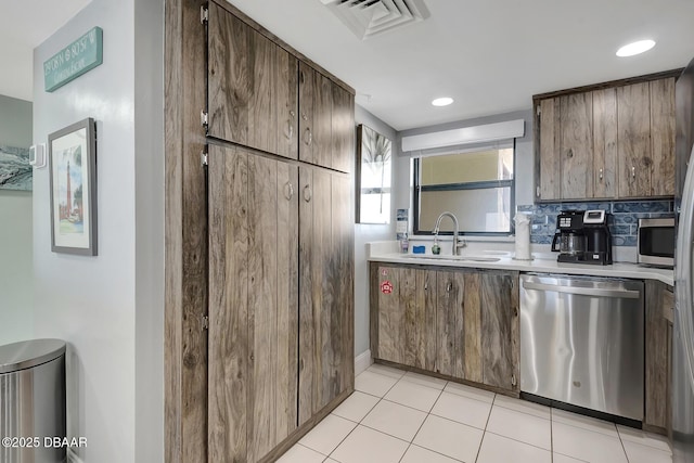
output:
M 296 167 L 209 151 L 210 461 L 257 461 L 297 423 Z

